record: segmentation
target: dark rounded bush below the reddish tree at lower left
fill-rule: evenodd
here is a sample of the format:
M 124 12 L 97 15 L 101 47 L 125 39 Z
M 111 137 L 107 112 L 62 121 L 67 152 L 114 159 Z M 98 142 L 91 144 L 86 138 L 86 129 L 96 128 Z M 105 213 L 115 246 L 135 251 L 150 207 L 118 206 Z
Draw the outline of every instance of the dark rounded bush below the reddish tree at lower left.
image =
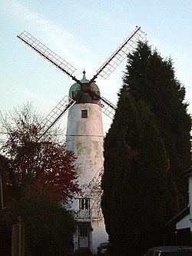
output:
M 41 198 L 20 198 L 1 223 L 12 226 L 18 218 L 24 224 L 26 255 L 60 256 L 73 248 L 76 224 L 63 206 Z

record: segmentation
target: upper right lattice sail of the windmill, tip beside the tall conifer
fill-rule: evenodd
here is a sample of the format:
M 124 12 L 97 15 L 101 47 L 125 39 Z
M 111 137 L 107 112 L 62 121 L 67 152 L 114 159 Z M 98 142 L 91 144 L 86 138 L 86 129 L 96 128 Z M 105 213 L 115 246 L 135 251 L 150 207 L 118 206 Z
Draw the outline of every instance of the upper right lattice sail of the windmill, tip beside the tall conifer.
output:
M 141 27 L 136 28 L 134 32 L 129 35 L 124 42 L 117 48 L 116 51 L 98 68 L 94 78 L 97 78 L 98 75 L 104 79 L 108 78 L 109 75 L 114 71 L 115 68 L 118 68 L 118 65 L 124 61 L 124 58 L 127 57 L 128 53 L 134 51 L 137 48 L 137 43 L 143 41 L 146 37 L 146 34 L 141 31 Z M 93 80 L 94 80 L 93 78 Z M 92 79 L 91 79 L 92 80 Z

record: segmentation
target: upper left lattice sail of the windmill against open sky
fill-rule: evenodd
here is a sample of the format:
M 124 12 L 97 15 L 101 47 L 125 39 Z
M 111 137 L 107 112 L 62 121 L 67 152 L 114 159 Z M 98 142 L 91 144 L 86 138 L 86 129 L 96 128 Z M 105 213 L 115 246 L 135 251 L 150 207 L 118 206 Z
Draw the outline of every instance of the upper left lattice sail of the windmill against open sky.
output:
M 40 41 L 38 41 L 38 39 L 36 39 L 28 32 L 24 31 L 17 37 L 25 42 L 25 44 L 33 48 L 35 52 L 38 52 L 38 54 L 40 54 L 42 57 L 48 59 L 48 61 L 55 65 L 57 68 L 65 71 L 68 76 L 71 76 L 74 71 L 76 71 L 76 68 L 66 62 L 65 59 L 61 58 L 55 52 L 51 51 L 47 46 L 42 44 Z

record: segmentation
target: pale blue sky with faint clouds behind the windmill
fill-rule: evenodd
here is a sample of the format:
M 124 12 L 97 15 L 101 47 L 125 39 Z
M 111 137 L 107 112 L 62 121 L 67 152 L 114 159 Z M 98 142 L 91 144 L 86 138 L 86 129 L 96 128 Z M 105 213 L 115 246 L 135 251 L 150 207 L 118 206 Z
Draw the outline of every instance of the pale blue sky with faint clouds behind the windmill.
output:
M 137 25 L 161 57 L 173 59 L 191 113 L 191 13 L 190 0 L 0 0 L 0 110 L 5 115 L 31 102 L 47 115 L 74 83 L 16 37 L 24 30 L 77 68 L 76 78 L 85 69 L 89 79 Z M 97 79 L 101 95 L 114 105 L 125 65 L 126 60 L 107 80 Z M 106 132 L 111 119 L 103 121 Z

